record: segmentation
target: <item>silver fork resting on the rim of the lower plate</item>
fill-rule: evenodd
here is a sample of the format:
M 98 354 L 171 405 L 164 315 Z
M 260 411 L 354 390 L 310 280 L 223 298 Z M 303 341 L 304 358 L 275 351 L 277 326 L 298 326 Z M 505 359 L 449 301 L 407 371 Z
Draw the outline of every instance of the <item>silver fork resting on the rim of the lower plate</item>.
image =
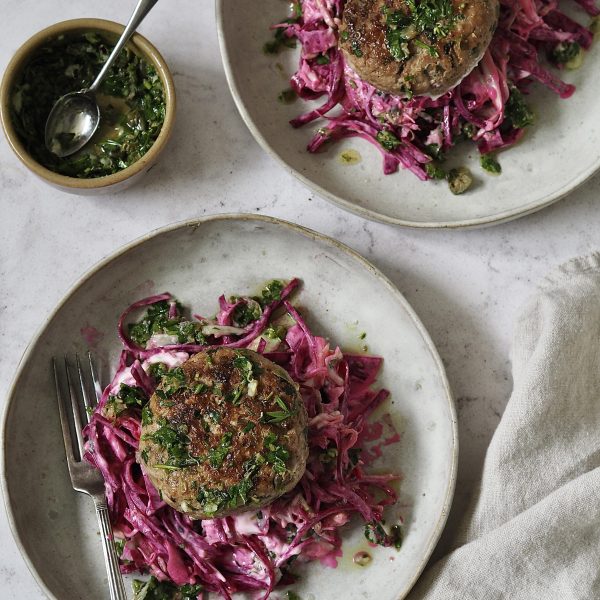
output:
M 94 387 L 93 398 L 88 393 L 86 377 L 84 377 L 79 356 L 75 355 L 81 397 L 83 398 L 83 403 L 85 405 L 86 419 L 89 423 L 91 413 L 102 394 L 102 389 L 100 387 L 94 361 L 90 353 L 88 353 L 88 360 L 90 365 L 90 374 L 89 378 L 87 379 L 91 379 Z M 73 380 L 71 379 L 71 372 L 66 356 L 64 363 L 65 380 L 67 383 L 68 396 L 71 404 L 70 410 L 73 415 L 73 429 L 75 437 L 73 436 L 71 426 L 69 424 L 69 408 L 67 407 L 67 401 L 65 400 L 65 397 L 61 391 L 56 360 L 54 358 L 52 359 L 52 369 L 54 371 L 54 382 L 56 385 L 56 398 L 58 400 L 60 424 L 65 442 L 67 466 L 69 467 L 71 483 L 73 484 L 74 490 L 91 496 L 92 500 L 94 501 L 94 506 L 96 507 L 96 516 L 98 517 L 98 524 L 100 526 L 102 538 L 104 562 L 106 563 L 106 571 L 108 574 L 110 599 L 127 600 L 127 594 L 125 593 L 125 586 L 123 584 L 123 577 L 119 571 L 119 558 L 113 543 L 114 538 L 108 515 L 108 505 L 106 503 L 106 496 L 104 495 L 104 479 L 100 474 L 100 471 L 83 459 L 84 441 L 81 423 L 81 404 L 75 391 Z M 90 448 L 90 450 L 93 451 L 93 448 Z

